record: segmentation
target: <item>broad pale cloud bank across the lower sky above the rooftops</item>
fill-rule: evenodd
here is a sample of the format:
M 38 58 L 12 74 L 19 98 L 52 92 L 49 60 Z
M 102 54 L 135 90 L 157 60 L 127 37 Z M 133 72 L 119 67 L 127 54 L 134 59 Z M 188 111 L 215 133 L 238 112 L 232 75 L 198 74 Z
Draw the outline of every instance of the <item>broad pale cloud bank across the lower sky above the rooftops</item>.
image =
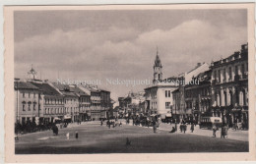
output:
M 57 71 L 63 78 L 73 79 L 148 79 L 153 77 L 159 46 L 167 78 L 189 71 L 198 62 L 231 55 L 247 42 L 246 33 L 246 27 L 216 26 L 200 20 L 148 31 L 114 26 L 104 30 L 55 29 L 15 42 L 15 74 L 27 75 L 25 65 L 33 64 L 52 80 Z

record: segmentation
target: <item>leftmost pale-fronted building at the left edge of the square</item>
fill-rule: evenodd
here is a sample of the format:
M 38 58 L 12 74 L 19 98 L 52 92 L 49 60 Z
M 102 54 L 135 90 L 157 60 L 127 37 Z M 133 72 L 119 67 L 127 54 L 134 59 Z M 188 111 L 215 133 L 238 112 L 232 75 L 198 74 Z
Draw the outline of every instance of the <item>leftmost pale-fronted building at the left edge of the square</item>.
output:
M 25 125 L 29 122 L 39 123 L 42 117 L 41 91 L 31 82 L 16 81 L 15 88 L 15 119 L 17 123 Z

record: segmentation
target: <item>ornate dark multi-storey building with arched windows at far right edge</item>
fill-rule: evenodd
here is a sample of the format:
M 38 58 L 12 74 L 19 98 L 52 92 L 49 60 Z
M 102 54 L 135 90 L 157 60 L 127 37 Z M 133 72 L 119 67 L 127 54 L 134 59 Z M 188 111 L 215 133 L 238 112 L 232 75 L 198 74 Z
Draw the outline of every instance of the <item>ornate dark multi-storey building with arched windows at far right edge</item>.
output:
M 213 116 L 248 127 L 248 44 L 211 64 Z

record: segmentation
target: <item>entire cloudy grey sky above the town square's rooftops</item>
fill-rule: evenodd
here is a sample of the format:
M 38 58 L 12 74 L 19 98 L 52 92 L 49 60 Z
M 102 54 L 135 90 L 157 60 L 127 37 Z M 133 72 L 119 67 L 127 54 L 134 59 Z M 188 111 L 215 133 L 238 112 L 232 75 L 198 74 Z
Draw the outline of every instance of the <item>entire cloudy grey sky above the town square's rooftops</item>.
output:
M 117 100 L 152 81 L 157 47 L 163 78 L 239 51 L 247 43 L 247 11 L 16 11 L 15 77 L 100 82 Z

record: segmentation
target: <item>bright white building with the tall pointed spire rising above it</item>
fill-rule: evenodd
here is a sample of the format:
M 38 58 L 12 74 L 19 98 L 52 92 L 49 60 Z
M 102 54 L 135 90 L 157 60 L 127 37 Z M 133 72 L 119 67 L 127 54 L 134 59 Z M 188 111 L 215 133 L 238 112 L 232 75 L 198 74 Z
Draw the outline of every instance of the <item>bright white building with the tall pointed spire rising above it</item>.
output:
M 177 78 L 171 77 L 162 80 L 162 65 L 160 63 L 160 57 L 157 52 L 155 65 L 154 65 L 154 80 L 153 85 L 145 88 L 145 108 L 146 113 L 161 114 L 169 113 L 173 99 L 171 92 L 177 88 Z

